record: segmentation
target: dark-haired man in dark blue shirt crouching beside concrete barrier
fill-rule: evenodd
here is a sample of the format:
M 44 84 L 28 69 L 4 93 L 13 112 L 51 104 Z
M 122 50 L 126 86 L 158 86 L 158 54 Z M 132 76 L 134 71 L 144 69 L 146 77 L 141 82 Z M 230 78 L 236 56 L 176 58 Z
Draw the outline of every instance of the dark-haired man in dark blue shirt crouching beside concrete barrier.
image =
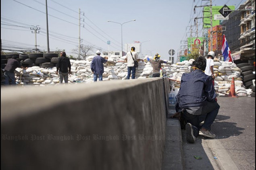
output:
M 210 130 L 220 108 L 212 80 L 203 72 L 206 59 L 198 57 L 193 64 L 194 71 L 182 75 L 176 96 L 176 111 L 183 111 L 183 117 L 187 121 L 185 137 L 189 143 L 194 143 L 198 134 L 215 137 Z M 200 127 L 202 121 L 204 123 Z

